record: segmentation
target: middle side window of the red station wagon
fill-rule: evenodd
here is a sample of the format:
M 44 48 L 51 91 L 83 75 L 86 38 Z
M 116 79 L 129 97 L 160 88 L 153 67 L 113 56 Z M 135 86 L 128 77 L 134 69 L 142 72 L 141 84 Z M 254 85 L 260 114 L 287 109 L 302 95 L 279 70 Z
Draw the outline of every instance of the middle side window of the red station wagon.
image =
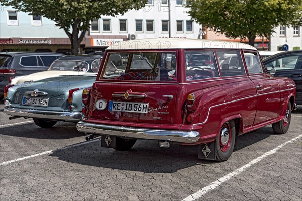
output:
M 216 51 L 222 77 L 245 75 L 239 50 Z

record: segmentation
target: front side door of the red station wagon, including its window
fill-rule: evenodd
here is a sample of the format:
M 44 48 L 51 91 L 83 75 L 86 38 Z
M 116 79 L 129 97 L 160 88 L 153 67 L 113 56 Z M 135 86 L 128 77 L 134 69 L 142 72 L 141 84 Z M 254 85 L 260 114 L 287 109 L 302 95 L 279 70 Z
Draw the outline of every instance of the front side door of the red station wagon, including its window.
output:
M 244 51 L 244 58 L 250 79 L 257 90 L 257 111 L 253 125 L 275 119 L 280 107 L 278 81 L 265 72 L 257 52 Z

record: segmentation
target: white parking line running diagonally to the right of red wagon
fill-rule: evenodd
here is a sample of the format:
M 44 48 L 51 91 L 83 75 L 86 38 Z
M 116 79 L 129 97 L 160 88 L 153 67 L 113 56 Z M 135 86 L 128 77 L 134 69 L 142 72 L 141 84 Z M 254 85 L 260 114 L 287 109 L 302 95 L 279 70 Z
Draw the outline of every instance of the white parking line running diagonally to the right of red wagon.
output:
M 297 139 L 301 138 L 302 135 L 299 135 L 295 138 L 292 138 L 291 140 L 286 141 L 285 143 L 281 144 L 280 146 L 266 152 L 265 154 L 263 154 L 262 156 L 259 156 L 258 158 L 255 158 L 254 160 L 252 160 L 251 162 L 249 162 L 248 164 L 245 164 L 244 166 L 238 168 L 237 170 L 217 179 L 216 181 L 212 182 L 211 184 L 209 184 L 208 186 L 202 188 L 201 190 L 195 192 L 194 194 L 189 195 L 188 197 L 186 197 L 185 199 L 183 199 L 183 201 L 193 201 L 196 199 L 199 199 L 201 197 L 203 197 L 203 195 L 205 195 L 206 193 L 208 193 L 209 191 L 215 189 L 216 187 L 220 186 L 222 183 L 230 180 L 231 178 L 235 177 L 236 175 L 240 174 L 241 172 L 245 171 L 247 168 L 249 168 L 250 166 L 260 162 L 263 158 L 276 153 L 277 150 L 281 149 L 282 147 L 284 147 L 286 144 L 291 143 L 293 141 L 296 141 Z

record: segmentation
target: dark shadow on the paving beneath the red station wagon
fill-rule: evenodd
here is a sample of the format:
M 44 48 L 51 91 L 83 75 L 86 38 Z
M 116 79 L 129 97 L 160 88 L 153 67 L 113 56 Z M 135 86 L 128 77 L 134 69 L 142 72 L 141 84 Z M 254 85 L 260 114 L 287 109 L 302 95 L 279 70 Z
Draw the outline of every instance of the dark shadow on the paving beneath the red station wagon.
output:
M 238 136 L 234 151 L 266 139 L 271 133 L 267 128 L 261 129 L 260 132 Z M 82 146 L 56 150 L 50 156 L 69 163 L 145 173 L 171 173 L 195 165 L 202 165 L 204 168 L 220 165 L 215 161 L 198 159 L 197 146 L 171 145 L 170 148 L 160 148 L 158 141 L 148 140 L 137 140 L 129 151 L 103 148 L 99 140 Z

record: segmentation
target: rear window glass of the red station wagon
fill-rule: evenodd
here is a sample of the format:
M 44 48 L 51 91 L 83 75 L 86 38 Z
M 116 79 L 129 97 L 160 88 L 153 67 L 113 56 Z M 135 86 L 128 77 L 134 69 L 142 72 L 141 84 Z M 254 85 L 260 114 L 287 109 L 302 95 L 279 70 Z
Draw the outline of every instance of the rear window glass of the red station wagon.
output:
M 109 53 L 100 78 L 142 81 L 176 81 L 176 53 Z

